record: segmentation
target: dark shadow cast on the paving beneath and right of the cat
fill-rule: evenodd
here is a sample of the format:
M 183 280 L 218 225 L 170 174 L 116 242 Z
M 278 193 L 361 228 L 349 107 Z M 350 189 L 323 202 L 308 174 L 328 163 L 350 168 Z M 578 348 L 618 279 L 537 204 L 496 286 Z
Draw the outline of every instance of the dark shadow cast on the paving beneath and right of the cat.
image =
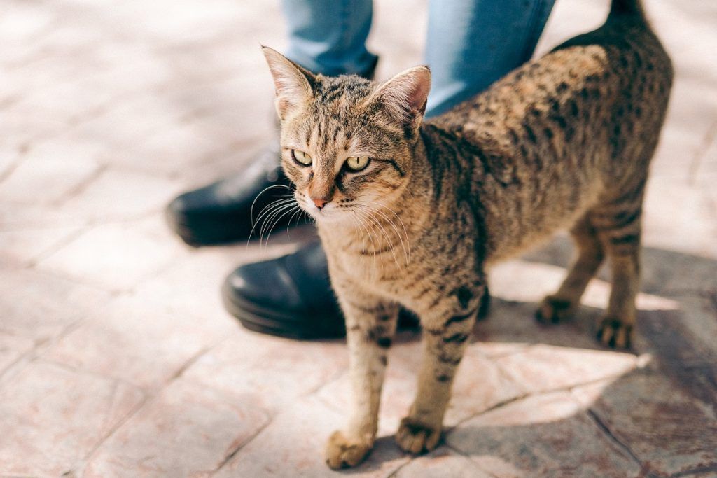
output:
M 566 267 L 571 250 L 569 239 L 561 237 L 523 260 Z M 644 248 L 642 258 L 642 292 L 663 302 L 638 312 L 637 337 L 628 353 L 640 355 L 640 367 L 594 384 L 594 396 L 588 393 L 590 384 L 583 387 L 588 392 L 545 390 L 478 414 L 494 418 L 463 420 L 447 429 L 442 444 L 428 455 L 431 461 L 470 459 L 499 476 L 511 469 L 565 474 L 571 466 L 592 476 L 716 466 L 717 353 L 695 331 L 714 328 L 709 321 L 717 317 L 717 261 L 655 248 Z M 598 277 L 609 281 L 609 269 Z M 695 301 L 707 310 L 701 313 Z M 668 307 L 660 308 L 663 303 Z M 493 296 L 488 317 L 476 322 L 473 342 L 495 345 L 493 358 L 501 347 L 514 345 L 611 350 L 595 338 L 602 308 L 583 305 L 571 320 L 543 325 L 533 317 L 536 307 Z M 407 330 L 397 334 L 396 344 L 419 339 L 417 330 Z M 570 408 L 566 397 L 581 405 Z M 567 411 L 551 416 L 556 409 Z M 343 472 L 375 472 L 400 457 L 394 436 L 381 436 L 364 464 Z

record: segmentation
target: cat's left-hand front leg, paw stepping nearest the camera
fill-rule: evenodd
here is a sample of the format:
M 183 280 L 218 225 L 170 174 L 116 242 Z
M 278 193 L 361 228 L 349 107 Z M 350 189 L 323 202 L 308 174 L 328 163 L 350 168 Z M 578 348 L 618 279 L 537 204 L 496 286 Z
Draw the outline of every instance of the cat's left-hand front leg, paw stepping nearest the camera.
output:
M 326 445 L 326 463 L 333 469 L 359 464 L 374 446 L 386 353 L 399 309 L 373 296 L 341 293 L 338 287 L 337 292 L 346 316 L 352 394 L 348 426 L 335 431 Z

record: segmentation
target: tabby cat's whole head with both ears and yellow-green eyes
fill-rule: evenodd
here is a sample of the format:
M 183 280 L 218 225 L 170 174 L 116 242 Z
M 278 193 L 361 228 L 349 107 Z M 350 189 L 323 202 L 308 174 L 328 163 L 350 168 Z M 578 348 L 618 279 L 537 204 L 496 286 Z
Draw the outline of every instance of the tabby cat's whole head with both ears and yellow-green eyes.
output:
M 355 221 L 389 206 L 410 178 L 431 83 L 428 68 L 384 83 L 324 77 L 262 49 L 276 88 L 282 166 L 299 206 L 319 223 Z

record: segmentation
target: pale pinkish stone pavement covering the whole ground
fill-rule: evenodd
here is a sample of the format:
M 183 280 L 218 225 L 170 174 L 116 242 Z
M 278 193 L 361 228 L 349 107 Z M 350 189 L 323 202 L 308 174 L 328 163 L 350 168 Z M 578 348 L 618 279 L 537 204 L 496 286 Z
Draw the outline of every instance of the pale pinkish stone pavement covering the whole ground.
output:
M 558 1 L 540 51 L 599 24 L 607 3 Z M 421 61 L 425 2 L 376 4 L 385 78 Z M 345 474 L 717 476 L 717 8 L 647 9 L 678 76 L 645 205 L 634 353 L 592 338 L 605 272 L 574 321 L 533 321 L 569 259 L 561 236 L 492 271 L 493 312 L 440 448 L 412 458 L 392 440 L 419 355 L 403 333 L 381 438 Z M 281 48 L 282 31 L 276 2 L 0 4 L 1 477 L 340 474 L 323 443 L 346 419 L 343 342 L 249 333 L 219 303 L 232 267 L 295 242 L 189 249 L 162 216 L 269 137 L 258 44 Z

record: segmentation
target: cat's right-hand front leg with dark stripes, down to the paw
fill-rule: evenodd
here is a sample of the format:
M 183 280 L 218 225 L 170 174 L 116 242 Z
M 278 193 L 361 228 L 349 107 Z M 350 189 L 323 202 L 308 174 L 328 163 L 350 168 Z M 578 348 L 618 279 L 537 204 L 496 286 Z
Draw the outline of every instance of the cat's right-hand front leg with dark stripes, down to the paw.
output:
M 470 299 L 456 301 L 446 297 L 421 317 L 424 352 L 418 391 L 408 416 L 396 432 L 399 446 L 409 453 L 434 449 L 441 436 L 453 378 L 473 330 L 485 287 L 461 287 L 460 290 Z

